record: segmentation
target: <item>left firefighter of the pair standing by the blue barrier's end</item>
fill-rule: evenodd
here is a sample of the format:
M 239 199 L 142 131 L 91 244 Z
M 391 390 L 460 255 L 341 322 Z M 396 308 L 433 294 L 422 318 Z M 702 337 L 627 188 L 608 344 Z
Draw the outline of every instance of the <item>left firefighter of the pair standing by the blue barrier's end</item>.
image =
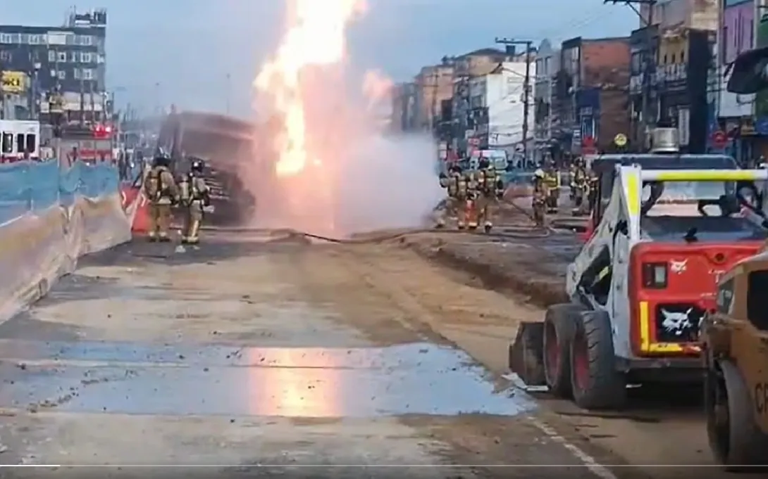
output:
M 149 201 L 150 241 L 170 241 L 170 206 L 178 202 L 179 190 L 170 172 L 170 158 L 163 153 L 155 156 L 144 182 L 144 194 Z

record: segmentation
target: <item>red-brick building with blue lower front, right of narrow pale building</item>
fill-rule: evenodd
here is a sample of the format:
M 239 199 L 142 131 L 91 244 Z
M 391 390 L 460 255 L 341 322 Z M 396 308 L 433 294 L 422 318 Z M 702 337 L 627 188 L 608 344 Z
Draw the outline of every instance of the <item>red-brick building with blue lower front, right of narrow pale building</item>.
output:
M 629 37 L 571 38 L 560 58 L 552 98 L 555 159 L 584 153 L 584 146 L 610 151 L 618 133 L 629 133 Z

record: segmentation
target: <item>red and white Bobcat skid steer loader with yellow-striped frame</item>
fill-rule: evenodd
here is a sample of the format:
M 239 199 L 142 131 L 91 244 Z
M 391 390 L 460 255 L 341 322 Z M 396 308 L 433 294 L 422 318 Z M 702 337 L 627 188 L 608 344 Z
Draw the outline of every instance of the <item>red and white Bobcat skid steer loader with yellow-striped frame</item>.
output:
M 510 369 L 590 409 L 621 408 L 628 384 L 701 382 L 717 282 L 768 238 L 766 180 L 727 156 L 617 156 L 568 266 L 570 302 L 520 326 Z

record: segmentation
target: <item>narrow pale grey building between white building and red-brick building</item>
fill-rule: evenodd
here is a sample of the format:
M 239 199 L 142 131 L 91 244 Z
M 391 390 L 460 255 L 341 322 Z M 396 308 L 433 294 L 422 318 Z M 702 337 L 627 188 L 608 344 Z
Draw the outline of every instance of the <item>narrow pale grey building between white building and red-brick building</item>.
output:
M 552 139 L 552 91 L 554 74 L 560 70 L 560 51 L 552 48 L 548 41 L 542 41 L 538 47 L 535 63 L 534 82 L 534 139 L 533 159 L 541 162 L 551 146 Z

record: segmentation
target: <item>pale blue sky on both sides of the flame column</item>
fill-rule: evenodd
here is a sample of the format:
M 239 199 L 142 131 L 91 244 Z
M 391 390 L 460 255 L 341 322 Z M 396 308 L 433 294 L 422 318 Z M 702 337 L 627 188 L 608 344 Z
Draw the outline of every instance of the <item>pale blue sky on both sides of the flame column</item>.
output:
M 250 116 L 253 77 L 276 47 L 286 0 L 88 0 L 107 8 L 108 89 L 119 106 L 161 105 Z M 333 2 L 334 0 L 317 0 Z M 2 23 L 61 25 L 67 2 L 0 0 Z M 368 0 L 349 32 L 356 70 L 411 79 L 444 55 L 494 47 L 496 37 L 562 41 L 637 28 L 602 0 Z M 556 14 L 556 15 L 553 15 Z

